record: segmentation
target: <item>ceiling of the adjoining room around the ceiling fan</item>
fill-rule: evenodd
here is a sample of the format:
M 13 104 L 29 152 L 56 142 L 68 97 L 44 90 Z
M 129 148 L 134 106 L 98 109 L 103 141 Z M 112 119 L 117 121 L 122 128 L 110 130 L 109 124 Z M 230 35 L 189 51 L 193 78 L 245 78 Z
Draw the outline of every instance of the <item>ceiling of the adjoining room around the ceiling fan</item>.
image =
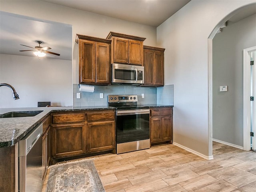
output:
M 72 60 L 72 26 L 57 22 L 38 20 L 7 12 L 0 12 L 0 53 L 22 56 L 34 56 L 29 47 L 48 46 L 50 52 L 60 56 L 46 54 L 46 58 Z

